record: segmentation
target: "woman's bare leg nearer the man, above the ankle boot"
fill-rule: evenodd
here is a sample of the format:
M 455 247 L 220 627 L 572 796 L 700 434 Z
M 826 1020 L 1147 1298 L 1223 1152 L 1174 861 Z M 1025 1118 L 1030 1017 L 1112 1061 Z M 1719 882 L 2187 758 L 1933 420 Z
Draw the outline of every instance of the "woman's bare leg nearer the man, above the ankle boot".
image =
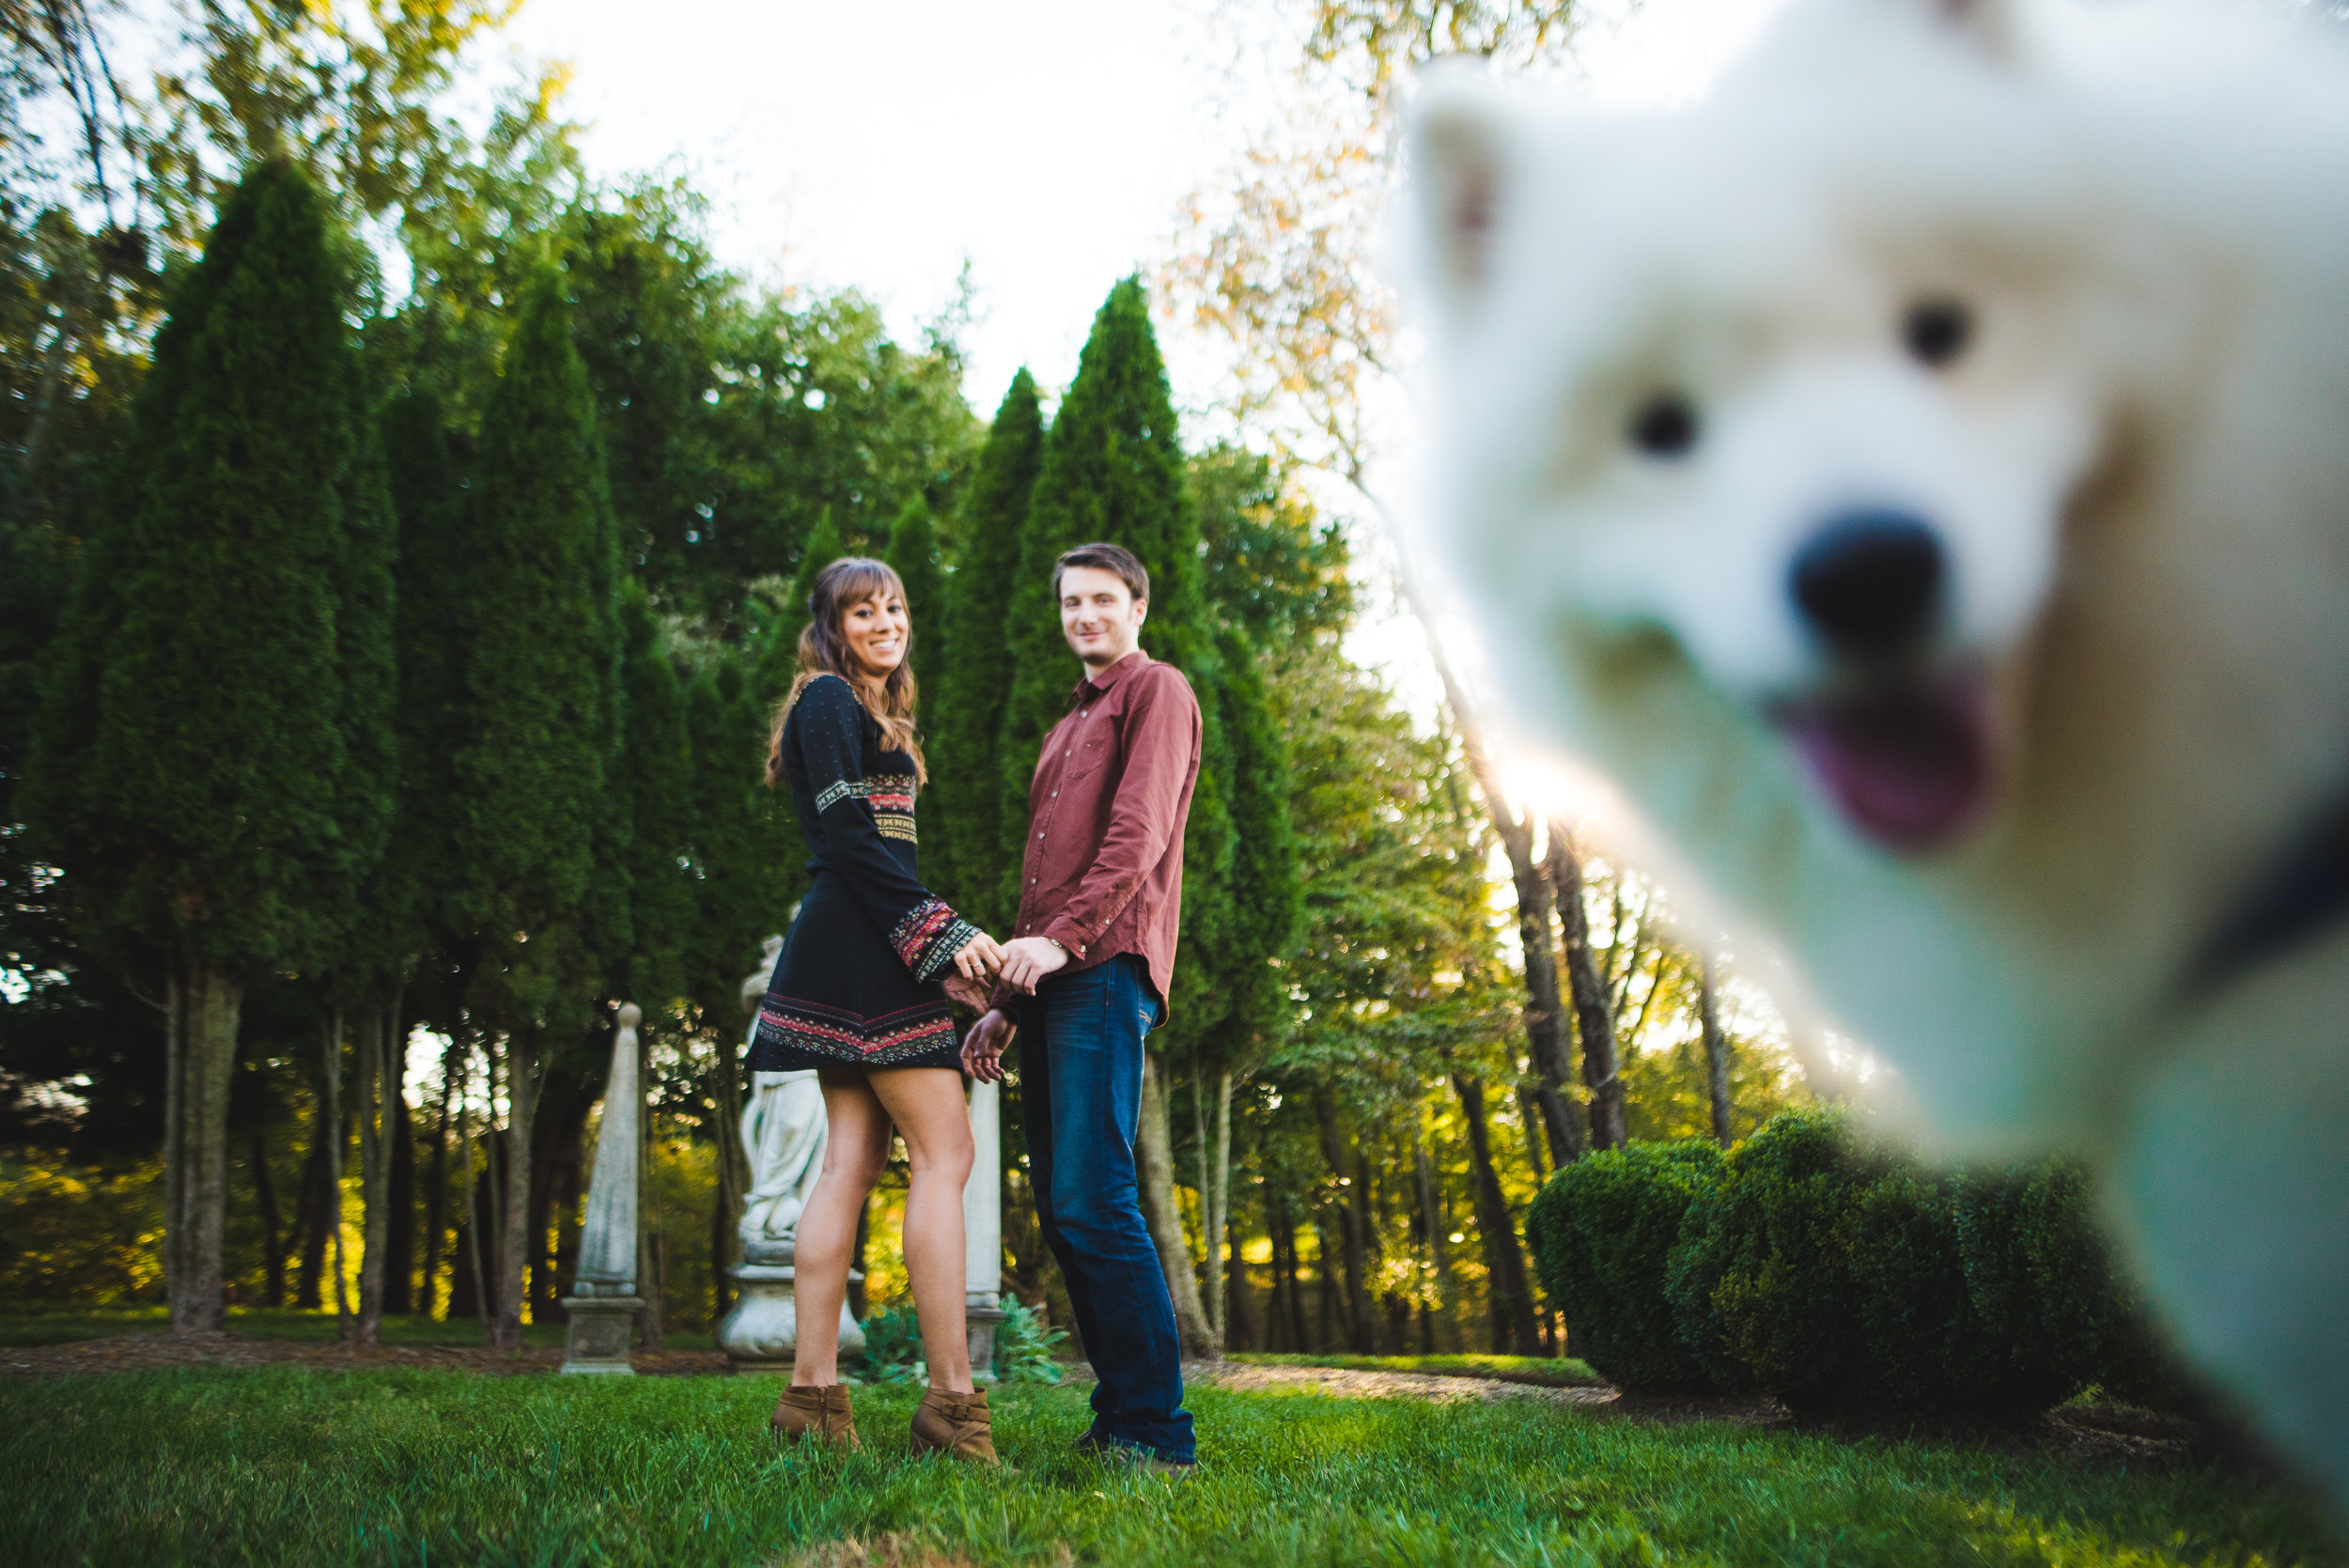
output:
M 897 1124 L 914 1167 L 914 1185 L 904 1195 L 904 1272 L 914 1282 L 930 1387 L 968 1394 L 963 1185 L 970 1183 L 970 1113 L 963 1075 L 951 1068 L 886 1068 L 867 1073 L 867 1082 Z

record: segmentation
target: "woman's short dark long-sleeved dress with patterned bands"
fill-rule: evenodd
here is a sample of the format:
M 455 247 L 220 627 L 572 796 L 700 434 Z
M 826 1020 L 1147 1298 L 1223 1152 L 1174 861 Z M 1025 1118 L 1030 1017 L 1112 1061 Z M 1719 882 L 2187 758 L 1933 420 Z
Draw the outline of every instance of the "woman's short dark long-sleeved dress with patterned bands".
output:
M 817 676 L 782 725 L 782 772 L 815 880 L 759 1007 L 749 1070 L 961 1066 L 937 976 L 977 930 L 916 873 L 914 758 L 881 749 L 848 681 Z

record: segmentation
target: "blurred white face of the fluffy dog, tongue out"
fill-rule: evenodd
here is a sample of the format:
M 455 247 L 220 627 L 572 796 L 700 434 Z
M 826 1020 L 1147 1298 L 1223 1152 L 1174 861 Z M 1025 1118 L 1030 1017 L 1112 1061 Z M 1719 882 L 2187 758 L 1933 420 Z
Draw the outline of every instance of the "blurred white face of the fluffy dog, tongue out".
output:
M 1687 744 L 1762 746 L 1806 807 L 1936 854 L 2011 793 L 2145 279 L 1997 61 L 1921 12 L 1863 26 L 1898 47 L 1835 113 L 1600 122 L 1431 85 L 1445 547 L 1541 629 L 1517 674 L 1562 667 L 1527 711 L 1651 746 L 1703 685 L 1741 735 Z

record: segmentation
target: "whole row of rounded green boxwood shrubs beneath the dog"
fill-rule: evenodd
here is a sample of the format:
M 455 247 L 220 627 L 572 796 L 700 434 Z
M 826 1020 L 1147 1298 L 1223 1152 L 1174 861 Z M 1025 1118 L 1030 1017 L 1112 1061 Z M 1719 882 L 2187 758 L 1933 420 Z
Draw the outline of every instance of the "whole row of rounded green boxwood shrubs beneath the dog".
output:
M 2062 1160 L 1931 1171 L 1804 1108 L 1727 1157 L 1579 1160 L 1527 1235 L 1574 1352 L 1630 1390 L 2018 1413 L 2175 1387 Z

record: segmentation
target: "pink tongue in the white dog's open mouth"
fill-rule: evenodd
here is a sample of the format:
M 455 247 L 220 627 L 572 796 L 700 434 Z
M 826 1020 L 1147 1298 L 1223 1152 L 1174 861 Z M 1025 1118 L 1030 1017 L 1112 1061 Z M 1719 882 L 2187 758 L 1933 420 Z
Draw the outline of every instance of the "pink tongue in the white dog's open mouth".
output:
M 1964 690 L 1804 709 L 1792 735 L 1851 826 L 1891 850 L 1950 843 L 1990 796 L 1990 744 Z

